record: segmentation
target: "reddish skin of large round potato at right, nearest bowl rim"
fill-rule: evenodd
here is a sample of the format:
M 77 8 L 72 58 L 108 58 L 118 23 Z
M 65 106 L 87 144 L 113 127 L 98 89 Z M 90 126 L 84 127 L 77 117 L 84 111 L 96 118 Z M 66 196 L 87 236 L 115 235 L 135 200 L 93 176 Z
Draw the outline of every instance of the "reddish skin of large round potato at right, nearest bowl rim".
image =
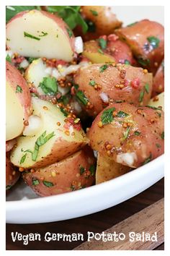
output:
M 109 108 L 115 108 L 115 114 L 123 111 L 127 117 L 114 117 L 112 123 L 99 127 L 101 116 Z M 148 159 L 151 161 L 164 153 L 164 111 L 142 107 L 137 108 L 128 103 L 115 103 L 105 108 L 89 129 L 88 137 L 93 150 L 117 162 L 117 155 L 135 153 L 133 168 L 142 166 Z M 161 114 L 161 116 L 159 115 Z M 125 132 L 131 124 L 126 139 Z M 140 132 L 135 135 L 134 132 Z M 107 145 L 109 149 L 107 148 Z M 127 165 L 127 163 L 122 163 Z

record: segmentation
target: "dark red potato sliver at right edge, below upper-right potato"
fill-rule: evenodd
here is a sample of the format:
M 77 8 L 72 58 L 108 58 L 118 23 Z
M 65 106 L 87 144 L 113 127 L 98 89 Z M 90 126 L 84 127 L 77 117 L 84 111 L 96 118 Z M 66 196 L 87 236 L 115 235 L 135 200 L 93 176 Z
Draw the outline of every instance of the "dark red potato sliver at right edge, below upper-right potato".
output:
M 164 92 L 164 61 L 159 66 L 155 77 L 153 77 L 152 97 Z

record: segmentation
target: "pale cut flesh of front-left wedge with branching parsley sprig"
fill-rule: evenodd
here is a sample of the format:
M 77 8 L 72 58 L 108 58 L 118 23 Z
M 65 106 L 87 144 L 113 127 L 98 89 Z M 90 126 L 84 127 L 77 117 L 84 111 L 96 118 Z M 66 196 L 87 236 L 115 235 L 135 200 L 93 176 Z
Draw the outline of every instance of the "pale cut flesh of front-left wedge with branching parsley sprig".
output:
M 14 148 L 11 154 L 11 162 L 15 166 L 21 166 L 23 168 L 30 168 L 34 166 L 36 162 L 41 161 L 42 158 L 45 158 L 45 156 L 51 153 L 53 145 L 58 139 L 66 140 L 68 142 L 86 141 L 86 136 L 84 135 L 83 130 L 77 131 L 76 129 L 73 129 L 74 135 L 66 135 L 66 129 L 63 127 L 64 124 L 66 124 L 64 121 L 66 117 L 59 108 L 53 106 L 48 101 L 32 98 L 32 108 L 33 114 L 40 116 L 42 119 L 42 127 L 33 137 L 19 137 L 17 139 L 17 148 Z M 57 125 L 58 122 L 60 122 L 60 126 Z M 50 138 L 45 145 L 40 146 L 36 161 L 32 161 L 32 154 L 27 153 L 24 163 L 20 163 L 22 156 L 25 154 L 24 151 L 34 151 L 37 138 L 45 131 L 46 135 L 54 132 L 55 136 Z

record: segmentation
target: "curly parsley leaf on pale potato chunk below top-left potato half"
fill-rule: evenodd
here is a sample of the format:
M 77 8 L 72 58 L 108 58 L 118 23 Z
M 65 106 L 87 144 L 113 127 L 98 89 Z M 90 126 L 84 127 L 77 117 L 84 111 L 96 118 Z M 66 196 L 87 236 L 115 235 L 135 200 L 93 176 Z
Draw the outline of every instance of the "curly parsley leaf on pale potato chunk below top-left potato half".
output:
M 55 77 L 43 77 L 39 87 L 45 94 L 54 95 L 58 91 L 58 82 Z

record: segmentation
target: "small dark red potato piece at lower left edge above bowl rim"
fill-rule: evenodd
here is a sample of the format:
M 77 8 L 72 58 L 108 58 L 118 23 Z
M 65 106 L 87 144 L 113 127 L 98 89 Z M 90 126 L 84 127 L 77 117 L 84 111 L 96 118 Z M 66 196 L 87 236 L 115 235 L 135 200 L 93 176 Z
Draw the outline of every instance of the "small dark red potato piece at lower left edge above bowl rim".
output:
M 20 176 L 19 171 L 14 169 L 14 166 L 9 160 L 9 153 L 6 154 L 6 190 L 10 189 L 18 181 Z

